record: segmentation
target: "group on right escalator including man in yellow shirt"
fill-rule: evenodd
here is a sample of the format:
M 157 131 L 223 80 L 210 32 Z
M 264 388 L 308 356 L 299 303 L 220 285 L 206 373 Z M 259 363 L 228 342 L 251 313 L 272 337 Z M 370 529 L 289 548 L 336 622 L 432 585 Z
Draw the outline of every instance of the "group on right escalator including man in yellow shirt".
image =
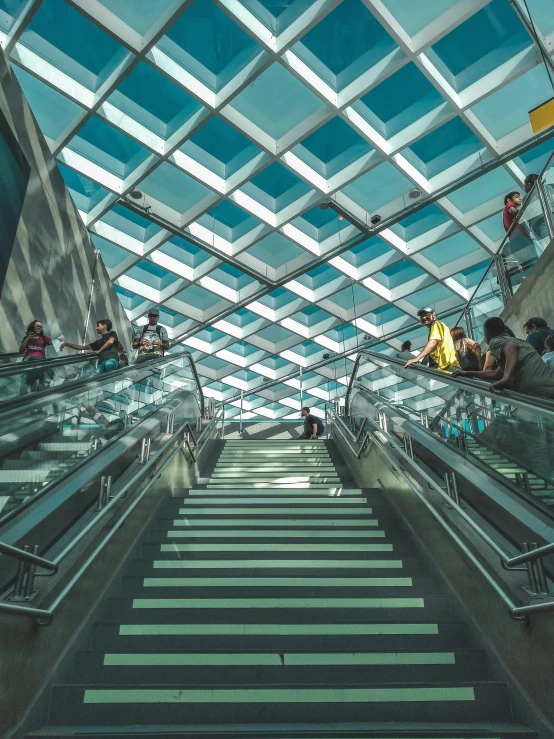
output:
M 406 359 L 406 367 L 426 364 L 454 377 L 489 380 L 493 392 L 504 389 L 527 395 L 554 398 L 554 329 L 544 318 L 533 317 L 523 324 L 524 341 L 514 336 L 501 318 L 485 321 L 483 356 L 481 346 L 467 337 L 461 326 L 448 326 L 439 321 L 435 308 L 427 306 L 418 313 L 427 327 L 427 343 L 414 355 L 411 342 L 405 341 L 397 357 Z

